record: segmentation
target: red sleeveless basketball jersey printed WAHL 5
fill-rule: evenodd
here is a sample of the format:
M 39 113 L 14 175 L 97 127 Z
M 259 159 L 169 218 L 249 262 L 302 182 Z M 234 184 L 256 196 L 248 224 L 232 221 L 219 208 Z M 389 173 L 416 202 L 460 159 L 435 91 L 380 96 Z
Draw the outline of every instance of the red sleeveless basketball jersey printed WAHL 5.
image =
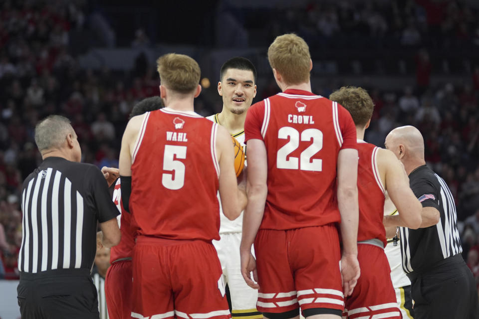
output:
M 148 112 L 132 155 L 130 209 L 139 235 L 220 239 L 218 125 L 195 112 Z

